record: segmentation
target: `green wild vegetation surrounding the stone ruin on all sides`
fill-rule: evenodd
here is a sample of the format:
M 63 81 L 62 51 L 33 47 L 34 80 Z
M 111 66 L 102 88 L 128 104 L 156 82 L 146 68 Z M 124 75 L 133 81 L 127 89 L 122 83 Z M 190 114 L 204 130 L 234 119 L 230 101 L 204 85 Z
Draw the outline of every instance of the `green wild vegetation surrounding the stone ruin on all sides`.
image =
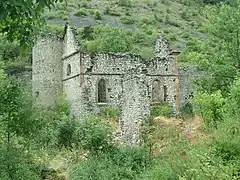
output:
M 16 3 L 20 6 L 11 9 Z M 69 12 L 88 23 L 92 19 L 111 23 L 112 17 L 122 23 L 121 28 L 101 24 L 79 28 L 85 51 L 132 51 L 148 58 L 158 26 L 172 44 L 184 40 L 182 65 L 204 70 L 204 76 L 196 79 L 196 96 L 183 110 L 184 120 L 170 118 L 166 105 L 154 107 L 143 126 L 139 147 L 125 147 L 114 137 L 117 108 L 106 107 L 98 115 L 79 120 L 71 116 L 63 95 L 56 106 L 42 109 L 34 105 L 29 89 L 18 77 L 6 74 L 6 65 L 30 64 L 30 53 L 19 44 L 19 39 L 30 35 L 6 29 L 24 24 L 32 13 L 28 7 L 38 7 L 25 3 L 0 2 L 0 10 L 4 10 L 0 11 L 4 12 L 0 31 L 7 32 L 7 38 L 0 39 L 1 179 L 240 178 L 239 0 L 69 0 L 44 13 L 55 22 L 46 32 L 53 26 L 59 30 L 57 20 L 68 19 Z M 22 12 L 28 15 L 18 19 Z M 36 15 L 35 20 L 40 18 Z M 32 28 L 34 22 L 31 19 Z

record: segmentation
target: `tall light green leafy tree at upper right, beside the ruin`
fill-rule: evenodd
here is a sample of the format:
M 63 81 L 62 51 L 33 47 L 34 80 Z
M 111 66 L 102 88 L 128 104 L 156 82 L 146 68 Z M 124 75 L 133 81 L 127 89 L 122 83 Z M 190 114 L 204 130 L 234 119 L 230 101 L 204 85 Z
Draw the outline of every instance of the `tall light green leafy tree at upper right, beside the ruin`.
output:
M 225 96 L 240 71 L 240 1 L 209 9 L 207 39 L 188 43 L 183 59 L 198 65 L 206 74 L 197 83 L 208 93 L 221 90 Z

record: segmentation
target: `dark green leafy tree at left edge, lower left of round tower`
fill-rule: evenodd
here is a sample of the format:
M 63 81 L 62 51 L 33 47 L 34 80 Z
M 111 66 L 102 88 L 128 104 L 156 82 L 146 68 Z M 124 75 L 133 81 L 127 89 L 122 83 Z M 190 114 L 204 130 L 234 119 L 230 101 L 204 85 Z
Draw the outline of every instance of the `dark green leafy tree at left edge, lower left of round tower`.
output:
M 28 137 L 36 131 L 32 117 L 31 102 L 13 77 L 3 77 L 0 82 L 0 120 L 1 130 L 7 141 L 13 136 Z

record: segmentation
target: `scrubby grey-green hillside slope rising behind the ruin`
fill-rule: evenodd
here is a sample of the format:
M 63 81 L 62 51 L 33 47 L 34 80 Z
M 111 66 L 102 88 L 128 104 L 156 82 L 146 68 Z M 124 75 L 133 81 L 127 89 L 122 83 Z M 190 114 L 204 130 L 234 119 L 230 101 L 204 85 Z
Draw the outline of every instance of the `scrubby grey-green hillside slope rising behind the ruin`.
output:
M 205 8 L 193 0 L 68 0 L 58 3 L 51 11 L 46 10 L 43 16 L 49 26 L 57 30 L 66 21 L 77 27 L 79 34 L 83 33 L 80 36 L 82 48 L 87 51 L 102 50 L 95 48 L 98 46 L 96 42 L 89 43 L 101 33 L 90 30 L 95 36 L 86 35 L 84 27 L 103 24 L 113 29 L 120 28 L 124 32 L 121 36 L 131 39 L 127 43 L 133 44 L 128 51 L 141 54 L 146 59 L 153 55 L 158 30 L 169 40 L 171 48 L 182 50 L 189 38 L 205 36 L 204 24 L 207 22 Z M 101 27 L 99 31 L 107 36 L 116 36 L 106 28 Z

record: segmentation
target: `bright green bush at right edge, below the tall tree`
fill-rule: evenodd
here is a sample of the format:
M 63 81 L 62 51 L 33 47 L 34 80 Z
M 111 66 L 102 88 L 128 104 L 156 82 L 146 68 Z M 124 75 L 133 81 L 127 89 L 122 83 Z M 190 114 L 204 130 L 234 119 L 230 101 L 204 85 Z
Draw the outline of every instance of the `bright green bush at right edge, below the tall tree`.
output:
M 223 121 L 214 133 L 216 153 L 225 162 L 240 162 L 240 79 L 231 86 L 222 109 Z

